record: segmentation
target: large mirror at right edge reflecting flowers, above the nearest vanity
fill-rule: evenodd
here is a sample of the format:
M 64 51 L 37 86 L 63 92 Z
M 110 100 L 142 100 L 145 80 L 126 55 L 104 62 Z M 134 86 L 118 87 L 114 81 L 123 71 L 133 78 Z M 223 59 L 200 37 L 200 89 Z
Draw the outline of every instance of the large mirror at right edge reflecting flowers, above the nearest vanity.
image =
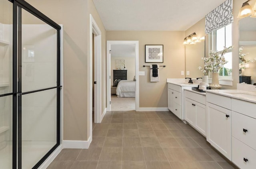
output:
M 256 18 L 239 20 L 239 83 L 256 83 Z

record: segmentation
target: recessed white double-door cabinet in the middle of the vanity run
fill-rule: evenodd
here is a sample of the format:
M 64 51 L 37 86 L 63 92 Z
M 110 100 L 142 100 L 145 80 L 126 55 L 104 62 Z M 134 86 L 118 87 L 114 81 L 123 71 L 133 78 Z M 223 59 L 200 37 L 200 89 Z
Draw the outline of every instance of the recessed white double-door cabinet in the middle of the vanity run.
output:
M 185 120 L 206 136 L 206 96 L 185 90 Z

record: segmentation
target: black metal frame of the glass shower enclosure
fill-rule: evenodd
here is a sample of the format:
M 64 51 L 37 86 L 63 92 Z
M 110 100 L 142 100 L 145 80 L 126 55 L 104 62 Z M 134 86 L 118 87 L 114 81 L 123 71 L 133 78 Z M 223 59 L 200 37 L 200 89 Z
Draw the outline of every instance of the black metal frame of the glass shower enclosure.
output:
M 48 157 L 49 155 L 60 145 L 60 89 L 61 89 L 61 81 L 60 81 L 60 29 L 61 27 L 52 21 L 50 18 L 42 14 L 36 8 L 28 4 L 24 0 L 8 0 L 13 3 L 13 74 L 12 74 L 12 93 L 1 94 L 2 96 L 13 96 L 13 118 L 12 118 L 12 169 L 22 169 L 22 95 L 30 94 L 34 92 L 40 92 L 44 90 L 50 90 L 56 88 L 57 90 L 57 121 L 56 121 L 56 144 L 34 165 L 32 169 L 37 169 Z M 22 92 L 22 22 L 21 22 L 21 9 L 26 10 L 30 14 L 36 16 L 46 24 L 50 25 L 52 28 L 57 30 L 57 82 L 56 86 L 52 86 L 50 88 L 42 88 L 40 90 L 32 90 L 28 92 Z M 18 57 L 19 56 L 19 57 Z M 18 159 L 18 160 L 17 160 Z M 17 163 L 18 161 L 18 163 Z

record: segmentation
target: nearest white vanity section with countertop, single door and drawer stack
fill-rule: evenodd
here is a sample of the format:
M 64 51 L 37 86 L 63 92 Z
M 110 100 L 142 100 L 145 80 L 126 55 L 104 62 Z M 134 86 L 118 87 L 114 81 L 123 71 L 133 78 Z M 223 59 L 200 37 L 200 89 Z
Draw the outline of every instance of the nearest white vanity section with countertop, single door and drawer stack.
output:
M 206 139 L 241 169 L 254 169 L 256 92 L 206 90 Z

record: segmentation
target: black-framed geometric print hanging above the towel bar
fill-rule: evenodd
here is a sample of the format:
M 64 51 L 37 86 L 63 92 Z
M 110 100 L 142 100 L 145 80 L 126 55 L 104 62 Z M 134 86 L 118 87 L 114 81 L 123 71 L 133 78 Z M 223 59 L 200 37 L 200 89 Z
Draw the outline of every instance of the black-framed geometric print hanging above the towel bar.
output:
M 146 63 L 164 63 L 164 45 L 145 45 Z

